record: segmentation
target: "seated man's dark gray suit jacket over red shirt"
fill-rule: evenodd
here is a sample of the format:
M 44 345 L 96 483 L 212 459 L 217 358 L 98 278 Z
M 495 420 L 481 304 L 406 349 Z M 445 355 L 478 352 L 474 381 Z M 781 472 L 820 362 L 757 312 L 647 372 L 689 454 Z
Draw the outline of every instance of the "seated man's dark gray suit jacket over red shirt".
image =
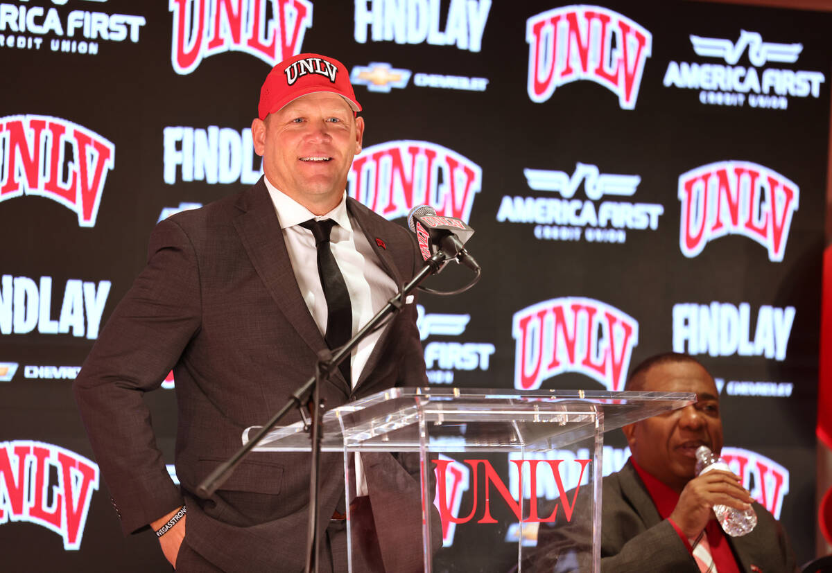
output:
M 601 571 L 628 573 L 667 571 L 699 573 L 699 567 L 687 551 L 676 530 L 662 520 L 636 469 L 627 462 L 622 470 L 604 478 L 602 490 Z M 592 495 L 591 487 L 582 487 Z M 795 553 L 785 531 L 765 507 L 755 503 L 757 526 L 742 537 L 728 537 L 747 573 L 793 573 L 797 571 Z M 560 518 L 562 514 L 558 515 Z M 571 523 L 541 524 L 533 571 L 592 571 L 592 521 L 587 516 L 573 516 Z M 574 546 L 574 549 L 569 549 Z M 756 567 L 756 568 L 753 568 Z

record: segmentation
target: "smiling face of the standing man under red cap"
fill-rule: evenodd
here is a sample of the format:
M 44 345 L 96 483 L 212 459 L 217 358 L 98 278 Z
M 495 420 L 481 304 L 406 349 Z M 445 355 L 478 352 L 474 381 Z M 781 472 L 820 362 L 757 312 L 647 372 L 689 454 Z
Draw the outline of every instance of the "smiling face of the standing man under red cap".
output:
M 255 151 L 272 185 L 324 215 L 338 205 L 353 157 L 361 151 L 364 119 L 327 91 L 290 101 L 251 124 Z

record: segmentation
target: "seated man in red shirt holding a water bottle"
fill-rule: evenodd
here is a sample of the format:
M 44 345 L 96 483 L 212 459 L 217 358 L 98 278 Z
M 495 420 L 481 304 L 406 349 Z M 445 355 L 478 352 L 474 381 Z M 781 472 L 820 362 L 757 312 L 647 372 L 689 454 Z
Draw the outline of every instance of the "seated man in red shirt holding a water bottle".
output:
M 722 448 L 711 374 L 686 354 L 660 354 L 639 364 L 625 389 L 693 392 L 697 402 L 623 427 L 631 457 L 603 481 L 601 571 L 797 571 L 785 531 L 739 477 L 721 470 L 695 477 L 696 448 Z M 580 495 L 584 491 L 592 489 Z M 727 536 L 711 508 L 749 504 L 758 519 L 754 531 Z M 591 571 L 591 547 L 574 546 L 592 539 L 591 531 L 592 522 L 580 516 L 563 525 L 543 523 L 533 571 Z

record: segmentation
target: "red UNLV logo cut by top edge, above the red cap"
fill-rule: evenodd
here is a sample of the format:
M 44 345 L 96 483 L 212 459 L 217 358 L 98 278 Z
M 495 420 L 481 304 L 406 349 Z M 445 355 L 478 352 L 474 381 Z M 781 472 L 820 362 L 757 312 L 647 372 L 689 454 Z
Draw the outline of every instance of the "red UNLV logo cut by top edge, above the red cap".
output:
M 181 75 L 221 52 L 246 52 L 275 66 L 300 53 L 312 26 L 308 0 L 170 0 L 168 9 L 171 62 Z

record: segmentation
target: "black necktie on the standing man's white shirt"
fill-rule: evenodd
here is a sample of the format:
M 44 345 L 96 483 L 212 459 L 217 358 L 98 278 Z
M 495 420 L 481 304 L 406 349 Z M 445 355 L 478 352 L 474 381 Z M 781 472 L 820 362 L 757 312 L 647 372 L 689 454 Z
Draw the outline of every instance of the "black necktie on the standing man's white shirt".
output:
M 324 340 L 330 349 L 338 348 L 346 343 L 353 334 L 353 308 L 349 304 L 349 292 L 344 282 L 344 275 L 335 262 L 332 249 L 329 248 L 329 231 L 335 221 L 331 219 L 316 221 L 310 219 L 300 226 L 312 231 L 315 246 L 318 248 L 318 275 L 320 285 L 324 288 L 326 298 L 326 333 Z M 341 373 L 347 383 L 349 380 L 349 357 L 339 364 Z

